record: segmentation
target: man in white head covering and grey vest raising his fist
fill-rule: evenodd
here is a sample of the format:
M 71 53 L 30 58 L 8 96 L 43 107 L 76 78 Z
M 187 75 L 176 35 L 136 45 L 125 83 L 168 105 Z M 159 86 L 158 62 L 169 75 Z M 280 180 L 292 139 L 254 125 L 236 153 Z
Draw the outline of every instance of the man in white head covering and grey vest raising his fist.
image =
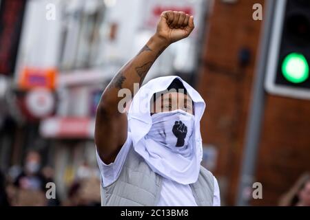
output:
M 163 12 L 154 36 L 103 91 L 95 126 L 103 206 L 220 206 L 216 178 L 200 166 L 203 98 L 178 76 L 134 94 L 156 58 L 193 30 L 193 16 Z M 121 89 L 134 94 L 128 115 L 118 108 Z

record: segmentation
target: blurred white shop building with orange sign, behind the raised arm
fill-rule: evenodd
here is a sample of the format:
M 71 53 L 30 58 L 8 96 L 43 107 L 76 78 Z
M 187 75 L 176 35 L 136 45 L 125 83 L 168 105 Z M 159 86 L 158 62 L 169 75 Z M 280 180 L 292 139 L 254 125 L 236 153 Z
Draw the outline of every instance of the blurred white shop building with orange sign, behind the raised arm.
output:
M 8 89 L 11 114 L 16 111 L 12 117 L 16 134 L 7 138 L 14 140 L 8 144 L 14 146 L 14 157 L 5 164 L 6 168 L 21 165 L 30 148 L 41 151 L 43 163 L 54 168 L 59 196 L 66 199 L 70 184 L 85 174 L 85 168 L 99 177 L 94 148 L 96 105 L 118 69 L 154 34 L 164 10 L 194 14 L 197 28 L 158 58 L 145 81 L 174 74 L 195 83 L 209 1 L 26 2 Z M 207 157 L 214 155 L 206 152 Z M 8 154 L 0 152 L 3 155 Z

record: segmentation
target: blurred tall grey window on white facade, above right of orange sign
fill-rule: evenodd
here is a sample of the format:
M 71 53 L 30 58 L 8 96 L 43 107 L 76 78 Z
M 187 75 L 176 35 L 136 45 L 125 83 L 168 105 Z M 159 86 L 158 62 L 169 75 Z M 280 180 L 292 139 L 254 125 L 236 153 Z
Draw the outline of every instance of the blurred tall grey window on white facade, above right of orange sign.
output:
M 62 7 L 61 70 L 98 65 L 96 57 L 103 37 L 100 32 L 105 6 L 100 0 L 65 1 Z

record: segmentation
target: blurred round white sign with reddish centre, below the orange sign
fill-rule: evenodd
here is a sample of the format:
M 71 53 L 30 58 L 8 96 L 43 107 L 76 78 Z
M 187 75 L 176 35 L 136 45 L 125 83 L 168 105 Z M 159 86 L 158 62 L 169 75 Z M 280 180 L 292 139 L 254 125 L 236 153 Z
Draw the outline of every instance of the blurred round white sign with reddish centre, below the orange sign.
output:
M 49 89 L 32 89 L 25 98 L 25 104 L 34 117 L 43 118 L 52 113 L 55 100 Z

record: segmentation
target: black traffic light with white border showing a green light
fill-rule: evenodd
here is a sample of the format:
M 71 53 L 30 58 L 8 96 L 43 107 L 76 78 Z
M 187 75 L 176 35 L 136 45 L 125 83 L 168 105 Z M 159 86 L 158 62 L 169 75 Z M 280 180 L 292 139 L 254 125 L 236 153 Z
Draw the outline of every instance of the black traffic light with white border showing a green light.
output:
M 267 91 L 310 99 L 310 1 L 277 1 L 271 30 Z

